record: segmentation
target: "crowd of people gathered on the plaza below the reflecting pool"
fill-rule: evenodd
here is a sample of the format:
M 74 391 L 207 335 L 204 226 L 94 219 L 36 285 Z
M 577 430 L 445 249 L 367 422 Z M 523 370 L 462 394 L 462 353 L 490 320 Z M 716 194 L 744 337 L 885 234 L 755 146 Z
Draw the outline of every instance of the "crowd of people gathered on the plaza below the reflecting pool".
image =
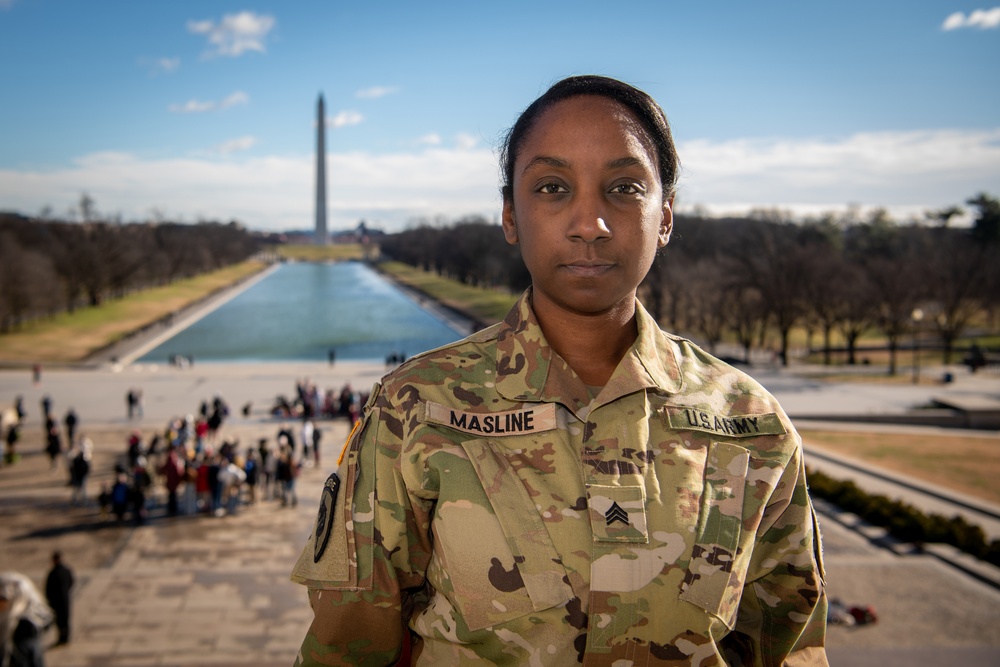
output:
M 45 395 L 44 448 L 51 472 L 66 472 L 70 505 L 97 507 L 107 521 L 142 524 L 151 514 L 224 516 L 263 501 L 294 507 L 299 471 L 320 465 L 324 429 L 317 420 L 344 418 L 353 426 L 366 400 L 367 395 L 350 384 L 339 391 L 321 391 L 308 379 L 298 380 L 295 398 L 278 397 L 271 411 L 280 420 L 274 437 L 246 443 L 220 432 L 230 408 L 216 395 L 201 401 L 191 414 L 168 420 L 162 430 L 145 435 L 132 430 L 114 458 L 110 479 L 100 475 L 100 486 L 94 489 L 88 483 L 94 472 L 94 442 L 80 433 L 80 418 L 72 407 L 60 418 Z M 129 388 L 125 403 L 130 421 L 142 418 L 141 389 Z M 244 417 L 250 408 L 243 407 Z M 4 460 L 13 463 L 27 417 L 22 397 L 2 414 Z

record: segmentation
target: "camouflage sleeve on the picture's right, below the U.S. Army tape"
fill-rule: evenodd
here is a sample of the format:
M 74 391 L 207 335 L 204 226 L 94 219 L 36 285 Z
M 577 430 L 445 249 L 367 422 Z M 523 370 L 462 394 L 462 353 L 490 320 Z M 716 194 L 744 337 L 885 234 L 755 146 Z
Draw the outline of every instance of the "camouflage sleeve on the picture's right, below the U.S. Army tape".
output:
M 765 511 L 727 650 L 754 667 L 826 666 L 827 600 L 816 516 L 796 448 Z M 734 656 L 735 657 L 735 656 Z

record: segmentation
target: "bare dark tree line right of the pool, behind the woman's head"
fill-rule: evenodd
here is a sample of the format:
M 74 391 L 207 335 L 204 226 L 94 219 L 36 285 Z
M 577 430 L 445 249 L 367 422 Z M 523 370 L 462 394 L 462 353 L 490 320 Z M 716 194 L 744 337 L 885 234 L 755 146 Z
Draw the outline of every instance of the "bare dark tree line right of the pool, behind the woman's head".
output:
M 900 224 L 885 210 L 801 222 L 777 210 L 676 215 L 641 297 L 666 329 L 713 351 L 736 341 L 745 361 L 754 349 L 773 349 L 787 364 L 800 329 L 821 338 L 827 364 L 835 335 L 854 364 L 859 339 L 872 332 L 886 341 L 890 373 L 915 336 L 951 363 L 960 337 L 996 333 L 1000 314 L 1000 201 L 982 193 L 967 203 L 971 227 L 950 224 L 958 207 L 920 224 Z M 483 218 L 417 221 L 387 235 L 382 254 L 470 285 L 519 292 L 530 284 L 517 248 Z

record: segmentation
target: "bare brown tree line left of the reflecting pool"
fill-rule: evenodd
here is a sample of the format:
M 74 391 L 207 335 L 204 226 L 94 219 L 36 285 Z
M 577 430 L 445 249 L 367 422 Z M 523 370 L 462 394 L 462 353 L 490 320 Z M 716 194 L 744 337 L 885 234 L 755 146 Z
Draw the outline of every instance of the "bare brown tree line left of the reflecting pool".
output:
M 83 222 L 0 213 L 0 331 L 250 257 L 257 240 L 237 222 Z

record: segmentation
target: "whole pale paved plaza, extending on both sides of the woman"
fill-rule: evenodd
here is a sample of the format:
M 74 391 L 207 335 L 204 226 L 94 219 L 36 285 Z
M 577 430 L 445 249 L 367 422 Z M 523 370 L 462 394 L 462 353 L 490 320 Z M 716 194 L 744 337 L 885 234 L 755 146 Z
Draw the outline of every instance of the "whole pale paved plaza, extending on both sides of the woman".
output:
M 297 380 L 308 378 L 321 389 L 336 390 L 350 383 L 366 391 L 384 370 L 379 364 L 340 362 L 333 367 L 104 366 L 44 369 L 37 385 L 27 370 L 0 371 L 0 406 L 22 395 L 29 410 L 22 460 L 0 468 L 0 568 L 20 570 L 41 583 L 49 555 L 61 550 L 77 575 L 72 642 L 47 652 L 49 667 L 290 665 L 311 612 L 305 591 L 290 583 L 288 574 L 312 526 L 319 489 L 347 424 L 321 422 L 323 463 L 303 470 L 297 507 L 266 500 L 234 516 L 171 519 L 164 516 L 161 489 L 145 525 L 118 526 L 102 520 L 96 507 L 69 505 L 65 471 L 50 471 L 42 451 L 43 395 L 52 397 L 59 417 L 72 405 L 81 432 L 95 443 L 93 496 L 124 454 L 132 429 L 148 440 L 168 419 L 194 413 L 202 400 L 218 394 L 234 415 L 221 435 L 239 438 L 246 447 L 260 437 L 273 440 L 280 422 L 269 408 L 279 394 L 293 396 Z M 1000 393 L 995 376 L 982 381 L 976 391 Z M 144 414 L 129 421 L 125 395 L 132 387 L 143 390 Z M 793 377 L 784 379 L 783 391 L 776 391 L 779 399 L 793 406 L 805 395 L 813 407 L 828 399 L 821 386 Z M 867 405 L 879 405 L 877 398 L 869 395 Z M 896 409 L 896 400 L 887 393 L 882 409 Z M 250 412 L 243 417 L 240 408 L 246 404 Z M 848 605 L 873 606 L 879 621 L 830 628 L 834 667 L 1000 664 L 1000 592 L 995 587 L 932 555 L 875 544 L 842 520 L 835 511 L 821 516 L 830 595 Z M 54 642 L 54 632 L 48 639 Z

